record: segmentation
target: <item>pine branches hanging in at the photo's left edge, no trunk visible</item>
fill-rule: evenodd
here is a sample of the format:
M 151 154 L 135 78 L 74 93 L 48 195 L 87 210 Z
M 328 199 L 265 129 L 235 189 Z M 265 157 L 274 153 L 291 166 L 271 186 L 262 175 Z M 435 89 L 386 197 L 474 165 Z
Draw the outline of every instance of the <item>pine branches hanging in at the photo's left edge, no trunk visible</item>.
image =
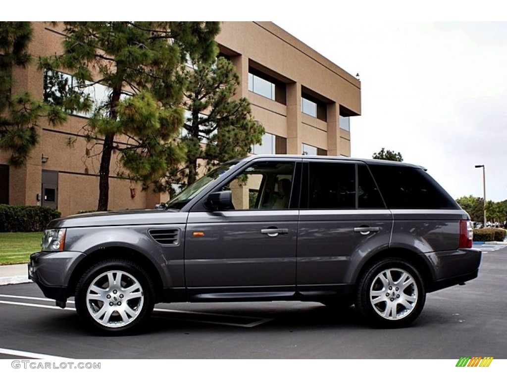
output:
M 0 22 L 0 150 L 11 154 L 9 164 L 14 167 L 25 165 L 39 142 L 41 118 L 52 126 L 66 119 L 59 107 L 37 101 L 28 92 L 12 94 L 12 70 L 30 63 L 31 39 L 29 22 Z

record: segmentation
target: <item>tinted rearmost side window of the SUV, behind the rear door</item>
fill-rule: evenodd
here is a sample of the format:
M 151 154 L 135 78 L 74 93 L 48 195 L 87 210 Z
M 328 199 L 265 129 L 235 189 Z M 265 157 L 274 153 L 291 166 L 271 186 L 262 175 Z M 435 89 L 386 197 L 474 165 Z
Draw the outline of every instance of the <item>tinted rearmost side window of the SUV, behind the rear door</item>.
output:
M 456 202 L 423 169 L 370 165 L 386 206 L 391 209 L 457 209 Z

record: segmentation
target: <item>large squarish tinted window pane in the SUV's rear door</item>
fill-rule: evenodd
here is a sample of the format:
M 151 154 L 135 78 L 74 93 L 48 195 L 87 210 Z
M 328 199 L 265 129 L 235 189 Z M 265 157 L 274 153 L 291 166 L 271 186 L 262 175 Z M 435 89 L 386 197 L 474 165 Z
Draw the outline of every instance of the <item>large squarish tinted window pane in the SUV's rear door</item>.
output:
M 355 164 L 310 162 L 311 209 L 355 208 Z

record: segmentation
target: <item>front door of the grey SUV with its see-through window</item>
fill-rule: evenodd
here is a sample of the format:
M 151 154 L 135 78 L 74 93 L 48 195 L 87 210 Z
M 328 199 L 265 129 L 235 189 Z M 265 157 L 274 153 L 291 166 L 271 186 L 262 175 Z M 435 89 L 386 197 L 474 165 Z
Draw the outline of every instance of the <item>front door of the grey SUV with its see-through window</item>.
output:
M 185 275 L 191 297 L 294 295 L 294 171 L 292 161 L 253 162 L 215 189 L 231 191 L 234 210 L 189 213 Z

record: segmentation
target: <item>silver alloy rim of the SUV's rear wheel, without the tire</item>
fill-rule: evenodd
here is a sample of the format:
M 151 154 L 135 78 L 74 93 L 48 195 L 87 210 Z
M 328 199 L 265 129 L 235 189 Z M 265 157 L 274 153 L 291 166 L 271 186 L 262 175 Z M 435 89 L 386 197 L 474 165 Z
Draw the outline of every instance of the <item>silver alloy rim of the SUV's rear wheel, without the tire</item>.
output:
M 373 309 L 382 318 L 400 320 L 407 317 L 417 304 L 417 284 L 410 273 L 390 268 L 379 273 L 370 287 Z

